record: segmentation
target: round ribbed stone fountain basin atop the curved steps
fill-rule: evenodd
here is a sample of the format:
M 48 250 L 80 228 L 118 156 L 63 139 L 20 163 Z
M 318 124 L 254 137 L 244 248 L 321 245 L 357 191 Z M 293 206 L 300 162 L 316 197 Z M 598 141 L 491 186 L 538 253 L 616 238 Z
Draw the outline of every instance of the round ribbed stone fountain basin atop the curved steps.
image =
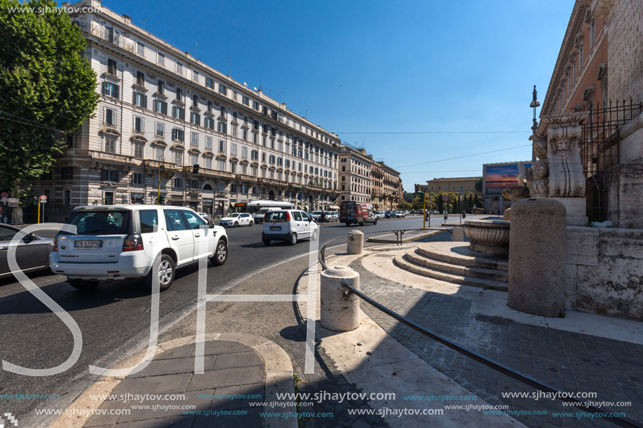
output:
M 471 242 L 473 251 L 499 256 L 509 255 L 509 221 L 465 220 L 464 233 Z

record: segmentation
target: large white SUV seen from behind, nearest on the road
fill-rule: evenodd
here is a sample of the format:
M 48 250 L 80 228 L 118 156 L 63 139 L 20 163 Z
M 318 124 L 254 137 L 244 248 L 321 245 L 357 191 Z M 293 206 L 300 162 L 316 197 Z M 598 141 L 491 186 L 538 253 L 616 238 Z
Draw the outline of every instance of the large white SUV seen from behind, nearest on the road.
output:
M 67 275 L 77 289 L 102 281 L 144 278 L 151 289 L 158 275 L 161 291 L 170 287 L 177 268 L 198 262 L 205 242 L 213 265 L 228 257 L 224 228 L 210 224 L 189 208 L 163 205 L 76 207 L 67 224 L 76 235 L 61 231 L 49 256 L 51 270 Z M 158 272 L 152 267 L 158 259 Z

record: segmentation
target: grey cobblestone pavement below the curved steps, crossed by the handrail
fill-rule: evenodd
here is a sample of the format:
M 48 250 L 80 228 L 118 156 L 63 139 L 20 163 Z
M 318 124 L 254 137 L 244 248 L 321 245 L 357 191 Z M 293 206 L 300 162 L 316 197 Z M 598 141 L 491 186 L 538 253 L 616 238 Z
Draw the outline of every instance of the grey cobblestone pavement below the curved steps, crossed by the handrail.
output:
M 432 238 L 449 240 L 445 235 Z M 469 300 L 377 277 L 360 261 L 351 263 L 351 268 L 359 272 L 360 287 L 367 296 L 398 314 L 564 392 L 596 392 L 597 397 L 588 400 L 594 402 L 631 402 L 630 407 L 610 406 L 606 412 L 625 412 L 643 423 L 643 345 L 471 314 Z M 543 415 L 513 415 L 529 427 L 611 426 L 596 418 L 553 417 L 553 412 L 582 411 L 560 401 L 504 398 L 503 392 L 536 390 L 449 350 L 367 303 L 361 303 L 361 308 L 402 345 L 490 404 L 506 404 L 515 412 L 546 410 Z

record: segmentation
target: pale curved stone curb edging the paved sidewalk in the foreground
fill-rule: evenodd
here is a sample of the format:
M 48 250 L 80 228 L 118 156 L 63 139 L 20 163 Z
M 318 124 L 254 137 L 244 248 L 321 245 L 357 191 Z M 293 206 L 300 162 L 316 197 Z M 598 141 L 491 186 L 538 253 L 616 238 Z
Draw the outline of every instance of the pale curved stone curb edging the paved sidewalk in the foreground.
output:
M 247 345 L 253 351 L 259 354 L 259 357 L 264 361 L 264 385 L 266 388 L 266 396 L 264 401 L 276 401 L 277 395 L 281 393 L 295 394 L 295 384 L 292 380 L 292 363 L 288 354 L 276 343 L 266 339 L 262 336 L 245 333 L 208 333 L 205 334 L 204 341 L 221 340 L 226 342 L 237 342 Z M 156 354 L 171 350 L 175 347 L 189 345 L 195 343 L 196 336 L 186 336 L 168 340 L 156 346 Z M 137 352 L 136 354 L 124 359 L 113 368 L 126 368 L 137 364 L 142 360 L 146 351 Z M 62 414 L 74 414 L 74 409 L 84 410 L 83 416 L 78 416 L 75 420 L 70 420 L 69 417 L 60 416 L 51 425 L 51 428 L 81 428 L 92 416 L 90 411 L 99 408 L 103 401 L 90 399 L 90 395 L 95 394 L 110 394 L 111 391 L 119 385 L 121 380 L 125 377 L 113 376 L 98 376 L 93 385 L 90 385 L 83 391 L 67 409 L 62 411 Z M 69 411 L 67 411 L 69 410 Z M 296 413 L 297 409 L 294 405 L 285 406 L 284 412 Z M 78 413 L 76 413 L 78 415 Z M 297 419 L 288 418 L 283 419 L 280 417 L 264 417 L 264 426 L 270 428 L 297 428 Z

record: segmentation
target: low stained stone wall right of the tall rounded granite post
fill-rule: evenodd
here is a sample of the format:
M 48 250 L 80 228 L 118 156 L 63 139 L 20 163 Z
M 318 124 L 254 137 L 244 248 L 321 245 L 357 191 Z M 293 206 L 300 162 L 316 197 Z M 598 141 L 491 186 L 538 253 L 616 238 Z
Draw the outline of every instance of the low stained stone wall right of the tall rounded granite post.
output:
M 567 226 L 567 309 L 643 321 L 643 229 Z

